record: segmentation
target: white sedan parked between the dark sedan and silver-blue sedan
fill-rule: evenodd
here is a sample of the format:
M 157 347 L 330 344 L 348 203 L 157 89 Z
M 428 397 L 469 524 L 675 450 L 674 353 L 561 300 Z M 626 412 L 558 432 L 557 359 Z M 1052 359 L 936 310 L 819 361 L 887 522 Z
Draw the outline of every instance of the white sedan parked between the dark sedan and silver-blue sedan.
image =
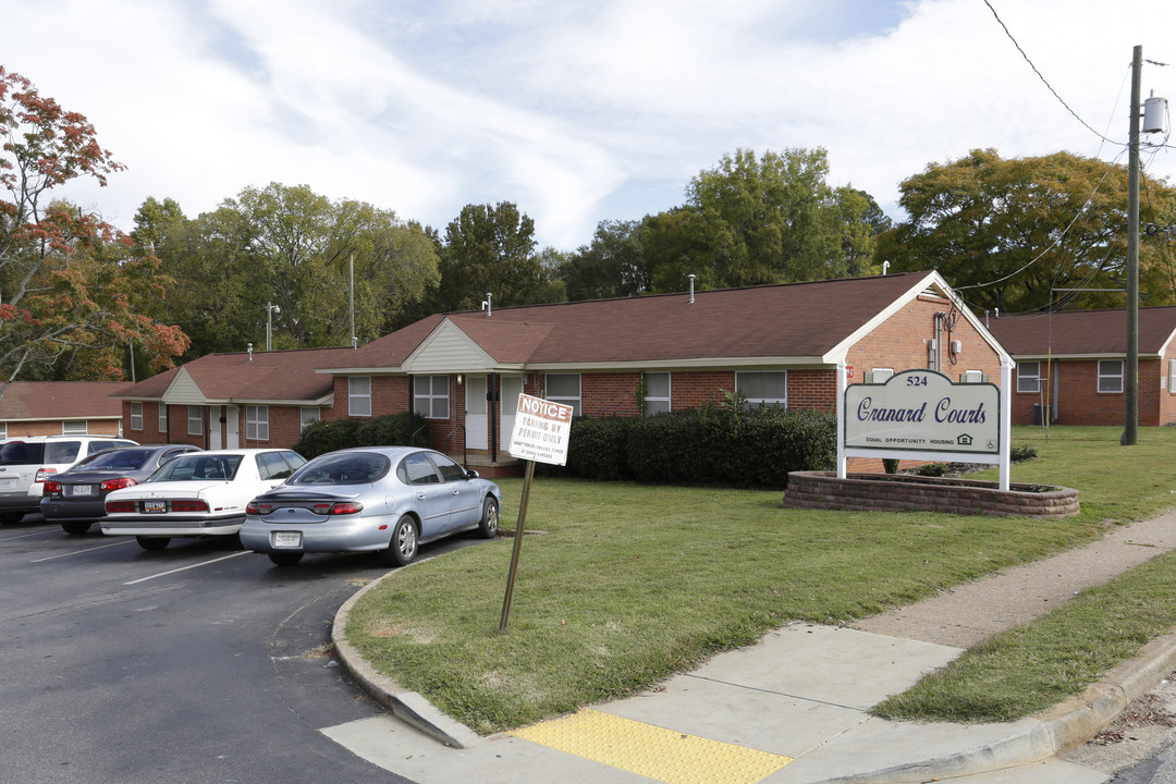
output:
M 289 449 L 221 449 L 173 457 L 142 484 L 106 496 L 103 534 L 129 535 L 145 550 L 176 536 L 233 536 L 249 500 L 306 463 Z

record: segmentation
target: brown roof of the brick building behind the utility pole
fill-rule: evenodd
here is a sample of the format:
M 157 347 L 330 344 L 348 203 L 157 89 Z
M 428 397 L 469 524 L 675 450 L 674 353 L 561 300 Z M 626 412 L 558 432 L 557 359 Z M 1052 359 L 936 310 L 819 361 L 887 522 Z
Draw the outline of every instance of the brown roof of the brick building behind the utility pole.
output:
M 1067 310 L 994 319 L 989 331 L 1016 356 L 1127 354 L 1127 310 Z M 1176 306 L 1140 309 L 1140 353 L 1160 354 L 1176 333 Z

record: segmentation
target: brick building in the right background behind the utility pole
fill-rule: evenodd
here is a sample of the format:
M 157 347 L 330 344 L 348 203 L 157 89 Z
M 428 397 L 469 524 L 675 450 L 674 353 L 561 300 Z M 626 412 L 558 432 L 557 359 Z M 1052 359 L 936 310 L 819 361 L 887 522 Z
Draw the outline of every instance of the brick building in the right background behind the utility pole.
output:
M 990 331 L 1017 367 L 1013 423 L 1122 425 L 1127 310 L 1001 316 Z M 1138 423 L 1176 422 L 1176 307 L 1141 308 Z

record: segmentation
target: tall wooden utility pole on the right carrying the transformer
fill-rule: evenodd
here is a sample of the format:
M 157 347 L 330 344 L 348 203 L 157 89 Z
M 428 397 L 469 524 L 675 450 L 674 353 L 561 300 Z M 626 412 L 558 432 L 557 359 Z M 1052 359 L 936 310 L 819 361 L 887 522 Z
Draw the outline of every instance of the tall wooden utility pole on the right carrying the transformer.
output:
M 1140 73 L 1143 47 L 1131 58 L 1131 128 L 1127 169 L 1127 362 L 1123 368 L 1125 396 L 1121 444 L 1138 441 L 1140 428 Z

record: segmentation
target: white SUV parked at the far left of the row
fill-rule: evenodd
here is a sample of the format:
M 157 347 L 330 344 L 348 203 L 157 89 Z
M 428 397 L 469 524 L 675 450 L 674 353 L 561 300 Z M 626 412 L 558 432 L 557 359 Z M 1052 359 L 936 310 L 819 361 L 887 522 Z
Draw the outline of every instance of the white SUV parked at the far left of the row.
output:
M 103 449 L 134 445 L 113 436 L 9 438 L 0 444 L 0 524 L 19 523 L 39 510 L 46 478 Z

